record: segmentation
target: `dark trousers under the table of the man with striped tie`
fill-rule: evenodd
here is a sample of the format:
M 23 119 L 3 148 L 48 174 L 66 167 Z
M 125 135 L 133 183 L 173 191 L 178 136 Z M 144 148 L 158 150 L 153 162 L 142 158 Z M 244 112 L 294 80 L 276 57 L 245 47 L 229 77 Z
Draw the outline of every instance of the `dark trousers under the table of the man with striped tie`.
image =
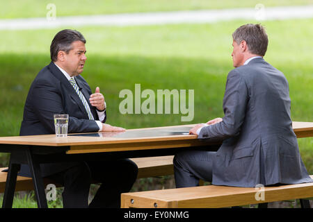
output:
M 120 207 L 120 194 L 128 192 L 136 181 L 138 167 L 128 159 L 80 162 L 65 171 L 48 176 L 64 186 L 63 207 Z M 90 184 L 101 182 L 88 206 Z

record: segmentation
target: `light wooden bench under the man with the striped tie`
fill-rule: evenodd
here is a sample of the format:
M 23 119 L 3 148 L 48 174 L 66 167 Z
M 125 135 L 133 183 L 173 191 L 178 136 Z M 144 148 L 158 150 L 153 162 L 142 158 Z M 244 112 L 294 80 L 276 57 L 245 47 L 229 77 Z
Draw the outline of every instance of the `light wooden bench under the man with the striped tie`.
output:
M 174 173 L 172 166 L 173 155 L 161 156 L 161 157 L 143 157 L 143 158 L 132 158 L 138 166 L 138 176 L 137 178 L 150 178 L 155 176 L 166 176 Z M 2 172 L 3 169 L 7 167 L 0 168 L 0 193 L 4 192 L 6 187 L 6 176 L 7 172 Z M 51 180 L 45 178 L 45 186 L 49 183 L 54 183 Z M 60 185 L 56 185 L 60 187 Z M 26 178 L 24 176 L 17 176 L 17 182 L 15 186 L 15 191 L 26 191 L 33 189 L 32 178 Z

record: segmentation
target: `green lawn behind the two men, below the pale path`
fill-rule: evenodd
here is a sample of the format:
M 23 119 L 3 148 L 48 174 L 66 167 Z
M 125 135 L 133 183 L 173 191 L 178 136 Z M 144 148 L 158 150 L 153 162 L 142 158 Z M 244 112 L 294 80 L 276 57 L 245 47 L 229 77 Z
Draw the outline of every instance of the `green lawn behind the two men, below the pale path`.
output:
M 250 21 L 253 22 L 253 21 Z M 227 73 L 233 69 L 232 32 L 248 21 L 164 26 L 86 27 L 88 51 L 82 76 L 100 87 L 108 105 L 108 123 L 124 128 L 200 123 L 223 117 Z M 313 19 L 263 22 L 269 46 L 265 60 L 289 80 L 294 121 L 313 121 Z M 69 27 L 70 28 L 70 27 Z M 29 86 L 49 60 L 58 30 L 0 31 L 0 136 L 18 135 Z M 182 114 L 120 114 L 122 89 L 194 89 L 195 117 Z M 300 153 L 313 173 L 313 139 L 298 139 Z M 7 155 L 0 155 L 7 166 Z

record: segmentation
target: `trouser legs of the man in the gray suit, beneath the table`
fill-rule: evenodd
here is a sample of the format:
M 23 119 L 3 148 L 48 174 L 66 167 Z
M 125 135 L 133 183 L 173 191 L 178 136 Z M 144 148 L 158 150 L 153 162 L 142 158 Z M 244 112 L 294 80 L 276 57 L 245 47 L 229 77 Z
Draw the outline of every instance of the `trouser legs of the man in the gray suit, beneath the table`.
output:
M 176 187 L 195 187 L 199 179 L 211 182 L 212 167 L 216 152 L 183 151 L 174 157 Z

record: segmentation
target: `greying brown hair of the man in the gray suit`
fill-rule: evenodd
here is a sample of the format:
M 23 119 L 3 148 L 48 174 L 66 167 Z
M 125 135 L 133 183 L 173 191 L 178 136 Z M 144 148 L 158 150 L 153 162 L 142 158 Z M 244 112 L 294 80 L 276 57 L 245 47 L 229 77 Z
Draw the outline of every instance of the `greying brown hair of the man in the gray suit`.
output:
M 240 26 L 232 33 L 232 38 L 237 44 L 245 40 L 250 53 L 264 56 L 268 46 L 268 37 L 261 24 L 246 24 Z

